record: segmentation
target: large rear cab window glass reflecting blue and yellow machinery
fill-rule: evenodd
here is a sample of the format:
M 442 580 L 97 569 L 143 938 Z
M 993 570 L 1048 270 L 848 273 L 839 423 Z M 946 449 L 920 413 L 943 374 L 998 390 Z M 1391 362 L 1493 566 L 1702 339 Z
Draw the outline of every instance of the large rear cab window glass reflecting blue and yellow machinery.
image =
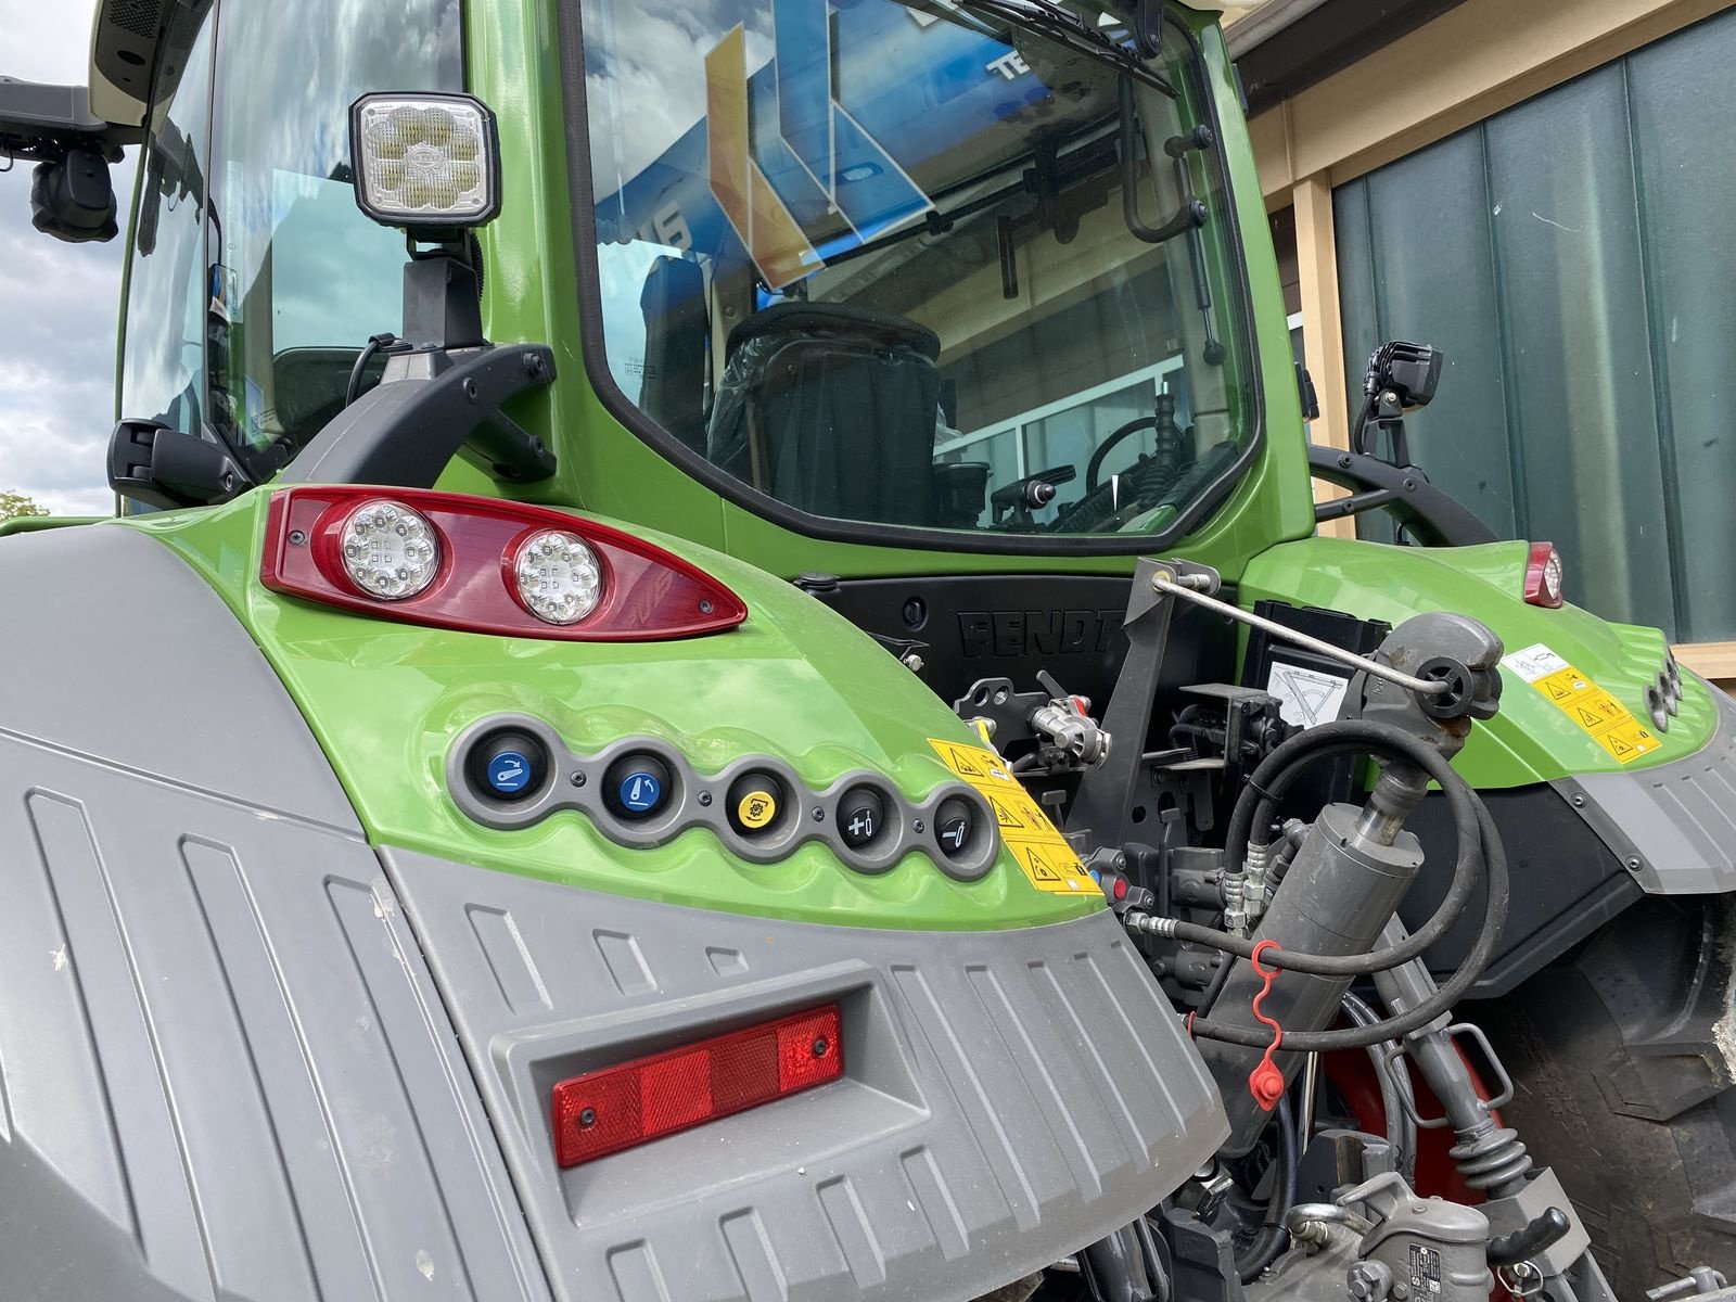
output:
M 1257 431 L 1198 52 L 1007 9 L 583 0 L 609 377 L 811 516 L 1167 533 Z

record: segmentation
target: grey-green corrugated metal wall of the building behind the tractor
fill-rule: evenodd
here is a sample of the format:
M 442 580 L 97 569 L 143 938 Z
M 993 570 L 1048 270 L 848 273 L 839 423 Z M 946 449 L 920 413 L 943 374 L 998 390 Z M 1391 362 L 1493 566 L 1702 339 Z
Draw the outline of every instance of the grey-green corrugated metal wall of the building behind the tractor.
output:
M 1415 460 L 1568 595 L 1736 637 L 1736 10 L 1333 194 L 1345 377 L 1446 349 Z M 1366 521 L 1368 517 L 1364 517 Z

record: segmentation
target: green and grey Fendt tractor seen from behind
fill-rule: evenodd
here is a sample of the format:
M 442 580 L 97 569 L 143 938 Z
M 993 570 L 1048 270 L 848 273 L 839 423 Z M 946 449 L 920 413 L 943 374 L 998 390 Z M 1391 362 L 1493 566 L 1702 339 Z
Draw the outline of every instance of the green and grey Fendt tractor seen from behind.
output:
M 1309 448 L 1212 14 L 104 0 L 0 153 L 128 241 L 125 512 L 0 540 L 9 1302 L 1736 1274 L 1736 713 L 1408 465 L 1434 349 Z

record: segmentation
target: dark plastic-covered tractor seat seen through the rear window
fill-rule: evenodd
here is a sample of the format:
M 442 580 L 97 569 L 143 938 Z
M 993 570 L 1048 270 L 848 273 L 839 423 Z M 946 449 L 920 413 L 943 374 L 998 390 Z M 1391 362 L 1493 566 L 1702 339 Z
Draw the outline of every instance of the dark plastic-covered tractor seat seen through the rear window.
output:
M 814 516 L 936 524 L 939 356 L 903 316 L 774 304 L 729 332 L 708 457 Z

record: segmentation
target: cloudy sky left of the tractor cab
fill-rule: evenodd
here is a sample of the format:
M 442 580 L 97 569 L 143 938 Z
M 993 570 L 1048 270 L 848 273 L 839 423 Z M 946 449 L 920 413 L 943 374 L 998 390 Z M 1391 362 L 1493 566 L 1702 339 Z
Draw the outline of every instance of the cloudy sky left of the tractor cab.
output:
M 83 83 L 89 0 L 0 0 L 0 75 Z M 122 238 L 68 245 L 30 224 L 31 167 L 0 175 L 0 491 L 56 514 L 109 514 L 115 328 L 134 153 L 113 170 Z

